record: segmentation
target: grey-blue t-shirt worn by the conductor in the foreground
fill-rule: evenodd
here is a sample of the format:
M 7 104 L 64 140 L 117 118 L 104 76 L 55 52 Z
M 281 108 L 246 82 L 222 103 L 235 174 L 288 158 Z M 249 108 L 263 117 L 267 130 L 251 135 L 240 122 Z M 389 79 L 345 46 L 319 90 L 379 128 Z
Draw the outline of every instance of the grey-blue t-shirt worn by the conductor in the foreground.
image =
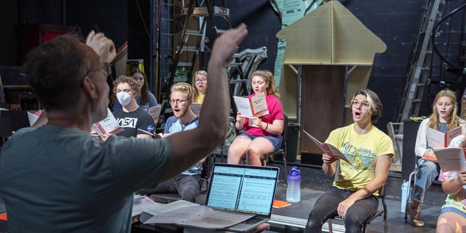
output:
M 130 232 L 133 193 L 155 188 L 170 140 L 77 129 L 18 130 L 0 154 L 0 194 L 11 232 Z

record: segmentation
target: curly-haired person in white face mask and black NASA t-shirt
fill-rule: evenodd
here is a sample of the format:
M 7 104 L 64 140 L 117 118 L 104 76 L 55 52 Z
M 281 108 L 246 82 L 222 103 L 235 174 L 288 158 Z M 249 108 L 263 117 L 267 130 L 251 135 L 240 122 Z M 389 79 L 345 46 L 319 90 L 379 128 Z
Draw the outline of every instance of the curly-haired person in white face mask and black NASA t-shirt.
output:
M 142 129 L 154 133 L 155 130 L 152 116 L 136 103 L 139 84 L 126 76 L 116 78 L 113 84 L 116 101 L 123 106 L 113 112 L 116 122 L 124 128 L 124 131 L 118 133 L 118 136 L 151 138 L 150 135 L 138 131 L 138 129 Z

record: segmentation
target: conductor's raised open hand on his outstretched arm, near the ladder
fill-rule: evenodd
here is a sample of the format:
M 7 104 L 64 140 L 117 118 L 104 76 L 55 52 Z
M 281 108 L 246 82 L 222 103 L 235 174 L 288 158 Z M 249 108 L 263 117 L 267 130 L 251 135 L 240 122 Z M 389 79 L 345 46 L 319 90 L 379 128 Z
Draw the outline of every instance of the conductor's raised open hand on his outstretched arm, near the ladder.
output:
M 215 40 L 212 55 L 215 55 L 215 59 L 219 62 L 230 63 L 233 54 L 236 52 L 236 47 L 246 38 L 247 34 L 245 24 L 240 24 L 237 28 L 228 30 Z M 213 57 L 210 59 L 213 59 Z

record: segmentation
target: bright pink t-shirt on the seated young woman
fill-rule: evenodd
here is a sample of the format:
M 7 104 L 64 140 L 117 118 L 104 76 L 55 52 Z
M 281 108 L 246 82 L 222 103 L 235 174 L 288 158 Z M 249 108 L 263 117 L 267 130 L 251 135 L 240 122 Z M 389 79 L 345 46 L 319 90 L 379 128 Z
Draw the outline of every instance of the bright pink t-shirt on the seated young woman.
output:
M 255 95 L 256 94 L 254 93 L 250 96 L 247 96 L 246 98 L 249 99 Z M 274 95 L 267 95 L 266 102 L 267 102 L 267 108 L 269 109 L 269 114 L 260 117 L 263 122 L 272 124 L 274 120 L 284 118 L 283 107 L 281 106 L 281 102 L 277 97 L 275 97 Z M 249 122 L 249 119 L 244 118 L 244 127 L 246 129 L 245 132 L 249 135 L 253 135 L 253 136 L 275 136 L 276 135 L 276 134 L 268 133 L 259 127 L 249 126 L 248 122 Z M 286 127 L 286 125 L 284 125 L 284 127 Z

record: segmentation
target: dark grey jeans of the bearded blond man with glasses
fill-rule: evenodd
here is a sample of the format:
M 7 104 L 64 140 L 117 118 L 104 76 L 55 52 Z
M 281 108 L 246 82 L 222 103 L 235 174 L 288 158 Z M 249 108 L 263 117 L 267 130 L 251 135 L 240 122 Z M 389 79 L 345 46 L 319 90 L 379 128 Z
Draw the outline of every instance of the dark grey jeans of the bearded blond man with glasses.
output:
M 178 174 L 157 185 L 154 190 L 141 190 L 139 194 L 180 194 L 181 199 L 195 202 L 205 180 L 200 175 Z

